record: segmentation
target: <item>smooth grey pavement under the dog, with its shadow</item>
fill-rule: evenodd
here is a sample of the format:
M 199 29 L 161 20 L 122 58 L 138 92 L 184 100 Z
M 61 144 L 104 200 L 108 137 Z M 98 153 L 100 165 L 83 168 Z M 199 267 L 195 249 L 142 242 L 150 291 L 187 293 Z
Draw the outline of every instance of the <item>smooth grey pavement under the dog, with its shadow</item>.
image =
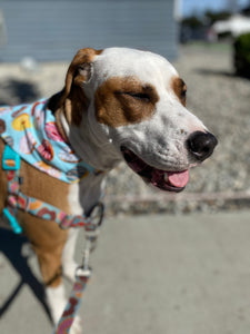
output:
M 250 210 L 109 218 L 91 263 L 83 333 L 250 333 Z M 36 257 L 2 229 L 0 315 L 1 334 L 52 332 Z

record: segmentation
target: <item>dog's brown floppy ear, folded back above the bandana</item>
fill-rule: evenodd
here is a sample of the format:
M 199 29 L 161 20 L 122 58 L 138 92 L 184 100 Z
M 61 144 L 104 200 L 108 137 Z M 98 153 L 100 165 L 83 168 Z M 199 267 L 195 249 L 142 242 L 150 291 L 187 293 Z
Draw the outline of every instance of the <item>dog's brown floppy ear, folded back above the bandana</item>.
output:
M 67 71 L 64 88 L 49 99 L 48 108 L 54 112 L 56 118 L 63 111 L 70 124 L 80 124 L 82 110 L 88 109 L 82 86 L 90 81 L 93 59 L 101 52 L 91 48 L 77 52 Z

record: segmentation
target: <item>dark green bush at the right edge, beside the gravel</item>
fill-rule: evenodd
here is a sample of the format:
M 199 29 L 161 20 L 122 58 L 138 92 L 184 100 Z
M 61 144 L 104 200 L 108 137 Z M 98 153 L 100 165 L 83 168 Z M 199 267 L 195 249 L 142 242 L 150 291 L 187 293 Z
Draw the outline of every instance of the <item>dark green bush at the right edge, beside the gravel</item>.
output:
M 233 43 L 236 73 L 250 78 L 250 33 L 239 36 Z

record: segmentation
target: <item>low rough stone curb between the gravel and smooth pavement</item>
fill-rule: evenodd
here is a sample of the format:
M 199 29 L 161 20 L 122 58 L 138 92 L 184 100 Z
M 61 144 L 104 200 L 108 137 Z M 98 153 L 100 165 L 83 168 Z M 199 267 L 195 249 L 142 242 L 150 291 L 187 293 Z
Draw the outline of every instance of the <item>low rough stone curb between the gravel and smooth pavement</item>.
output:
M 213 213 L 250 207 L 250 191 L 107 197 L 107 215 Z

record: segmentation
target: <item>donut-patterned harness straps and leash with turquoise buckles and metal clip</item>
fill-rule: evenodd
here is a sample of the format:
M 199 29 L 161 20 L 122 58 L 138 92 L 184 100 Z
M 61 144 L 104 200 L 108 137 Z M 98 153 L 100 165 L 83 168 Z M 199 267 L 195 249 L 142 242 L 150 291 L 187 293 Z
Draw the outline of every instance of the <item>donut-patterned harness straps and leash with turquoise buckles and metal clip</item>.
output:
M 8 145 L 2 156 L 2 168 L 7 171 L 8 178 L 8 199 L 7 206 L 3 209 L 3 216 L 9 220 L 16 234 L 22 233 L 22 228 L 17 220 L 18 209 L 22 209 L 36 217 L 54 220 L 63 229 L 69 227 L 84 227 L 86 229 L 82 264 L 76 271 L 76 282 L 68 304 L 53 332 L 53 334 L 67 334 L 80 307 L 83 291 L 92 274 L 89 259 L 91 252 L 93 252 L 97 246 L 99 230 L 104 215 L 104 205 L 103 203 L 98 203 L 93 206 L 88 216 L 73 216 L 66 214 L 48 203 L 26 196 L 20 190 L 20 185 L 22 184 L 22 177 L 19 176 L 20 156 Z

